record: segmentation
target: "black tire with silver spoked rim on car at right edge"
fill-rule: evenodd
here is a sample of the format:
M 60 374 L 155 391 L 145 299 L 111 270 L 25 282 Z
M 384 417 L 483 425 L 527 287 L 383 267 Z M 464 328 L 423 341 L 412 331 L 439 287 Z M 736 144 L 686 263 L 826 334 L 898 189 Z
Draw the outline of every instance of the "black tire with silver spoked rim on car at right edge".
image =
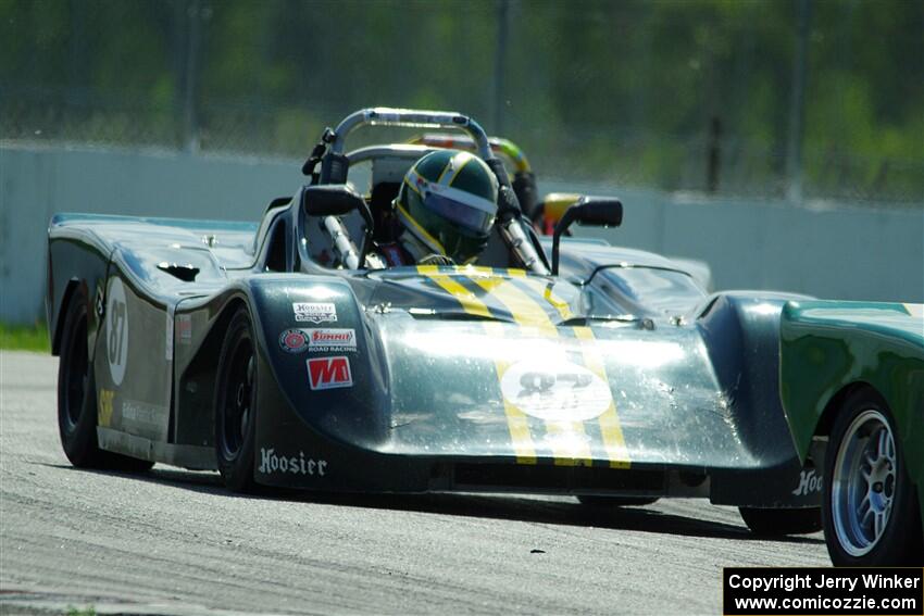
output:
M 838 411 L 825 452 L 822 503 L 832 563 L 842 567 L 924 565 L 917 493 L 908 477 L 888 405 L 874 390 L 862 389 Z M 877 532 L 875 518 L 883 512 Z

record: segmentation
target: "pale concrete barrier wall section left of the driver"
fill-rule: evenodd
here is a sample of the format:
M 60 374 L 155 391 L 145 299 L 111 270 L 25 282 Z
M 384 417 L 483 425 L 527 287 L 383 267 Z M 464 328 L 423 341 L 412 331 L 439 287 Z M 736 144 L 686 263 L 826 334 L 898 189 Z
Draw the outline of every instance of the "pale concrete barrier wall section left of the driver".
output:
M 0 319 L 45 314 L 48 221 L 59 212 L 257 221 L 300 164 L 87 149 L 0 150 Z

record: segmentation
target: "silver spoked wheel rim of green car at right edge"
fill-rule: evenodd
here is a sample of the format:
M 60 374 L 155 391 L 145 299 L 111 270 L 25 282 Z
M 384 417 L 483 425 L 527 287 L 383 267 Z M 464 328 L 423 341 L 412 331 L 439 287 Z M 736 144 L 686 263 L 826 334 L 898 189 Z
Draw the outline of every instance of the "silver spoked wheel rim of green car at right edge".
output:
M 898 461 L 888 419 L 875 408 L 860 413 L 837 450 L 831 505 L 838 543 L 851 556 L 869 553 L 888 527 Z

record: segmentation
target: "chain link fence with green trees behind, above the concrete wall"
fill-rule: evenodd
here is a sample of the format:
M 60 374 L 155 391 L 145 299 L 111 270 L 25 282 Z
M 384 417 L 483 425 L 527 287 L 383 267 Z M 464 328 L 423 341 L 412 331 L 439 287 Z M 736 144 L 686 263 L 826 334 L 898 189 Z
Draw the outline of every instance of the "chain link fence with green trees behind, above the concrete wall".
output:
M 0 0 L 0 40 L 3 140 L 302 158 L 444 108 L 540 177 L 924 206 L 921 0 Z

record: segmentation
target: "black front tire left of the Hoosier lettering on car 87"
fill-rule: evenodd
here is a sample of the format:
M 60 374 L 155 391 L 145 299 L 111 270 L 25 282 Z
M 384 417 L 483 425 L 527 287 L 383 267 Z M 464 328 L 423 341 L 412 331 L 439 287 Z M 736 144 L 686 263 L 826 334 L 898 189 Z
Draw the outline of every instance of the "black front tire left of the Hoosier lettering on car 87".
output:
M 250 315 L 240 307 L 228 324 L 215 379 L 215 456 L 225 486 L 235 492 L 257 489 L 257 369 Z

